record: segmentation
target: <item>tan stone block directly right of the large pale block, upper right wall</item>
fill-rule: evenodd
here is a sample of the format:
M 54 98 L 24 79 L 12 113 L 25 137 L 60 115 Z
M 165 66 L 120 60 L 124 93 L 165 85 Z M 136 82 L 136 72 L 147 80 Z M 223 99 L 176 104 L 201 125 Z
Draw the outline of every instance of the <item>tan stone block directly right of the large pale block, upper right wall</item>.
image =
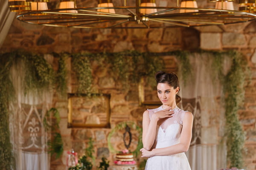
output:
M 224 32 L 222 36 L 224 47 L 246 46 L 247 42 L 244 34 Z

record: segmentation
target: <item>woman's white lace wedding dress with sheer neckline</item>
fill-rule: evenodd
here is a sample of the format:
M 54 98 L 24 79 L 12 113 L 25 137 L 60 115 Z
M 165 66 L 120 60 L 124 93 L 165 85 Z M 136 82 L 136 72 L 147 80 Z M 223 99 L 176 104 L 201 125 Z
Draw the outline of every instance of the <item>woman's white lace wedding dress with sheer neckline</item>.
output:
M 156 109 L 148 109 L 149 117 L 157 111 L 162 110 L 162 106 Z M 160 121 L 157 125 L 156 137 L 153 148 L 169 147 L 180 142 L 183 117 L 186 111 L 176 107 L 173 117 Z M 145 170 L 191 170 L 185 153 L 177 153 L 170 156 L 152 156 L 148 158 Z

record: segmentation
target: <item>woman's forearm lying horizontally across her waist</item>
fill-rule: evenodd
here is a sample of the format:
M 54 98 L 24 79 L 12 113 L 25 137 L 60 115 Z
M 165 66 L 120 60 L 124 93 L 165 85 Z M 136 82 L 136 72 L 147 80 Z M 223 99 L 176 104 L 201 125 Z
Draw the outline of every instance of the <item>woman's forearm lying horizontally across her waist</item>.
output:
M 169 147 L 156 148 L 153 149 L 151 152 L 153 156 L 169 156 L 177 153 L 186 152 L 188 149 L 189 146 L 187 146 L 187 144 L 179 143 Z

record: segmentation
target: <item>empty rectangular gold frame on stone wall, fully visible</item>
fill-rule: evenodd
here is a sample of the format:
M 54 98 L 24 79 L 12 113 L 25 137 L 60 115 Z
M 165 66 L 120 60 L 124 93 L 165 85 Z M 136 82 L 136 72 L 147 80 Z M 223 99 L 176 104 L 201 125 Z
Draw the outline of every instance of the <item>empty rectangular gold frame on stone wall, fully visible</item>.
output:
M 110 128 L 110 94 L 68 94 L 68 127 Z

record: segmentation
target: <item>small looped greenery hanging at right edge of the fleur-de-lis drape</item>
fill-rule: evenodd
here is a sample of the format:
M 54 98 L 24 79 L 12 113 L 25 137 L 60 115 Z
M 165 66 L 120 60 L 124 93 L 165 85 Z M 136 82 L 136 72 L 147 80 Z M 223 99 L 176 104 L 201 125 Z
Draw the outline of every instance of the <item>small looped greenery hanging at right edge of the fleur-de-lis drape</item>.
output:
M 52 115 L 51 115 L 52 113 Z M 54 118 L 54 122 L 50 123 L 50 119 Z M 44 117 L 44 127 L 45 129 L 51 130 L 54 134 L 52 139 L 48 141 L 48 152 L 51 153 L 51 156 L 55 155 L 55 158 L 58 159 L 63 153 L 63 141 L 61 138 L 61 133 L 59 133 L 59 123 L 61 121 L 60 114 L 56 108 L 51 108 L 47 111 Z

